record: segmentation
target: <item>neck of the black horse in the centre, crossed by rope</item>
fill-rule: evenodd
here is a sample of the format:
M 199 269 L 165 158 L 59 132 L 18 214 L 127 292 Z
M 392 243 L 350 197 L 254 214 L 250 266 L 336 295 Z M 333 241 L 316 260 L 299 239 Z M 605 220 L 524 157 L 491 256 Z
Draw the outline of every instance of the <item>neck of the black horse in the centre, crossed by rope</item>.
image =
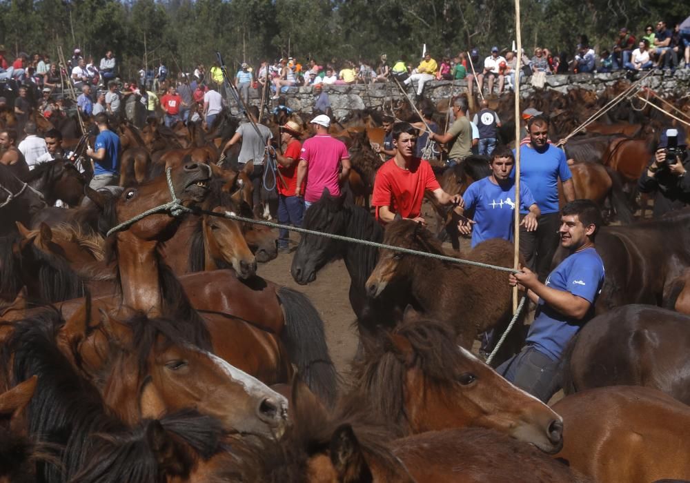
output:
M 364 208 L 351 206 L 348 208 L 345 236 L 381 243 L 384 239 L 384 229 Z M 378 259 L 378 248 L 345 244 L 343 260 L 354 286 L 364 289 Z

